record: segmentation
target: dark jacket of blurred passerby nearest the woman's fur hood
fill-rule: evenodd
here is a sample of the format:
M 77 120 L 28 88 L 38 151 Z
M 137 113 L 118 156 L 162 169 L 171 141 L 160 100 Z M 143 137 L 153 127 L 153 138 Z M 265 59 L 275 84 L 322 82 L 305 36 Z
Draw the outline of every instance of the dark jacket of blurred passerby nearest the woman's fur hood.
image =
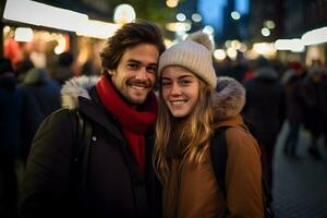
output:
M 272 68 L 263 68 L 245 84 L 245 120 L 255 129 L 258 141 L 277 137 L 284 119 L 284 89 Z

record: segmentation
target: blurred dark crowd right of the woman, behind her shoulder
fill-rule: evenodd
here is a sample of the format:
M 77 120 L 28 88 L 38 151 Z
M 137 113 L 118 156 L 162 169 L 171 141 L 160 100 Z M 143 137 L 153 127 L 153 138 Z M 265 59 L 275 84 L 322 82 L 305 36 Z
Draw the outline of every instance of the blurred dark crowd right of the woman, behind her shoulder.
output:
M 319 142 L 327 147 L 326 65 L 319 60 L 305 65 L 264 57 L 250 61 L 242 55 L 234 61 L 227 58 L 215 65 L 218 75 L 232 76 L 246 89 L 242 114 L 261 146 L 263 170 L 270 186 L 275 145 L 283 123 L 289 125 L 283 142 L 287 158 L 301 159 L 296 152 L 301 129 L 310 133 L 307 153 L 315 160 L 323 158 Z

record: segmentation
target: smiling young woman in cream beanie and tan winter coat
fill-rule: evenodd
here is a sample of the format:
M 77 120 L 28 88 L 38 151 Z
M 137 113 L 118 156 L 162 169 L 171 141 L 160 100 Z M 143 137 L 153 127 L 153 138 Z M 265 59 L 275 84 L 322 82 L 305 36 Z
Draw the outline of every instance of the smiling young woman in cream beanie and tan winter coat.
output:
M 245 92 L 232 78 L 218 77 L 217 83 L 210 50 L 208 36 L 198 32 L 159 59 L 154 156 L 164 186 L 164 217 L 259 218 L 264 216 L 259 148 L 239 114 Z M 219 126 L 229 126 L 226 197 L 209 152 Z

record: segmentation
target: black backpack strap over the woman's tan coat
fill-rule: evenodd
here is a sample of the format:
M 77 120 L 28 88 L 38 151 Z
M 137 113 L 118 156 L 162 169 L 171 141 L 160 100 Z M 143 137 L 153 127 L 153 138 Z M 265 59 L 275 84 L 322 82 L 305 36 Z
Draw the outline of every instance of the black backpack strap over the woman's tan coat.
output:
M 228 126 L 218 128 L 215 130 L 214 137 L 210 143 L 210 157 L 215 177 L 223 197 L 227 197 L 226 191 L 226 167 L 227 167 L 227 142 L 226 130 Z

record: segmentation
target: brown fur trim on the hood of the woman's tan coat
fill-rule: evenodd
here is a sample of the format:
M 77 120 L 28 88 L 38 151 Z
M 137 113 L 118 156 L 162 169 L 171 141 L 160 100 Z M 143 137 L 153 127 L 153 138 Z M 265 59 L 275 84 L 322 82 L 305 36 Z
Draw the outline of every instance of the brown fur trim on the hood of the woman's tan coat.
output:
M 245 105 L 245 88 L 232 77 L 218 76 L 214 95 L 215 120 L 235 117 Z

